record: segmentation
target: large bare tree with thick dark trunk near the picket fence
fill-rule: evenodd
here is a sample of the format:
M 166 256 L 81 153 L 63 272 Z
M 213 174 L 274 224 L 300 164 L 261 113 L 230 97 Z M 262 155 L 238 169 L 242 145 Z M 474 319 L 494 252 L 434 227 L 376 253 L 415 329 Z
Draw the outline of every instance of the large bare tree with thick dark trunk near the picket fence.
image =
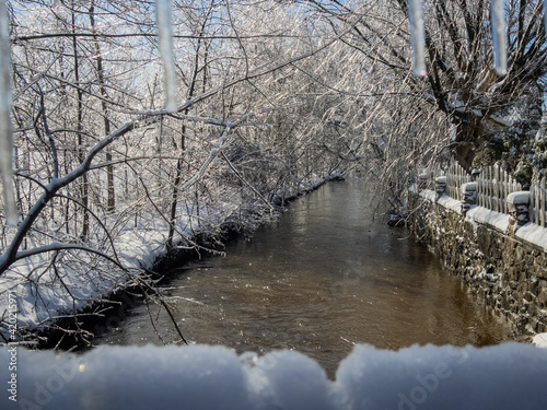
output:
M 407 0 L 374 4 L 307 1 L 336 21 L 336 30 L 351 24 L 347 45 L 363 59 L 382 67 L 386 82 L 421 96 L 417 110 L 440 112 L 455 126 L 450 148 L 456 160 L 470 168 L 481 150 L 485 128 L 511 124 L 500 113 L 517 106 L 543 90 L 547 47 L 543 3 L 504 2 L 508 70 L 493 69 L 490 2 L 451 0 L 422 2 L 427 67 L 422 78 L 409 75 L 411 66 Z M 364 4 L 364 5 L 363 5 Z M 351 16 L 360 20 L 352 23 Z

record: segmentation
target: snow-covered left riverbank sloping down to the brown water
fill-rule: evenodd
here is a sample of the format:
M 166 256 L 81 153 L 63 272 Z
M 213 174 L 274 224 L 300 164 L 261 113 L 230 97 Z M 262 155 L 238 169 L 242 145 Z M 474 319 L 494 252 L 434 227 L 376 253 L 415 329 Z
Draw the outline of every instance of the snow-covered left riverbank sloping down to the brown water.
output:
M 340 179 L 338 173 L 302 184 L 301 189 L 284 198 L 290 201 L 313 191 L 323 184 Z M 203 207 L 206 209 L 206 207 Z M 140 215 L 137 226 L 125 225 L 113 239 L 114 257 L 91 263 L 86 255 L 69 254 L 56 269 L 40 271 L 44 259 L 26 258 L 16 262 L 0 278 L 0 342 L 35 344 L 47 340 L 53 331 L 83 337 L 82 318 L 100 317 L 101 307 L 114 300 L 119 304 L 126 290 L 153 286 L 161 277 L 158 268 L 181 257 L 199 257 L 219 251 L 225 235 L 256 229 L 275 218 L 275 212 L 256 212 L 252 225 L 242 225 L 233 216 L 233 207 L 223 203 L 201 214 L 185 213 L 177 219 L 173 248 L 167 248 L 170 226 L 165 220 Z M 274 208 L 272 208 L 274 209 Z M 279 210 L 280 208 L 278 208 Z M 93 265 L 94 269 L 90 269 Z M 138 297 L 131 294 L 131 298 Z M 68 327 L 70 326 L 70 327 Z

